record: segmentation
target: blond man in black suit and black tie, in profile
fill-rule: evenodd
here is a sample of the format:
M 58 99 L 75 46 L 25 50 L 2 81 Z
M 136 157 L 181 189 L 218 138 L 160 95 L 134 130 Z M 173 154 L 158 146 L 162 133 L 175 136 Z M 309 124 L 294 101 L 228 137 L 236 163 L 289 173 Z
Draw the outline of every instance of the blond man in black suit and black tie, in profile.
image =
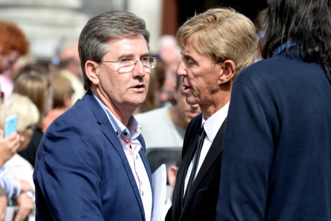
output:
M 166 221 L 215 220 L 231 88 L 237 73 L 255 61 L 255 27 L 232 9 L 210 9 L 187 20 L 177 40 L 182 47 L 177 75 L 183 76 L 186 102 L 199 104 L 202 114 L 186 130 Z

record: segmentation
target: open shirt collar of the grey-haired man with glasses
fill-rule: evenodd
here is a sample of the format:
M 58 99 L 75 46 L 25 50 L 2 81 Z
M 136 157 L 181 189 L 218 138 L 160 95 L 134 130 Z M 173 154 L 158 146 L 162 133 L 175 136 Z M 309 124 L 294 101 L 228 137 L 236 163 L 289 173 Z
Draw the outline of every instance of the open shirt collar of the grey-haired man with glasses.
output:
M 95 95 L 93 93 L 95 99 L 99 102 L 100 106 L 102 107 L 102 109 L 104 110 L 104 112 L 106 113 L 109 121 L 111 121 L 111 124 L 114 128 L 114 130 L 116 131 L 116 134 L 118 137 L 120 137 L 121 135 L 124 136 L 125 138 L 132 140 L 134 138 L 137 138 L 140 133 L 141 133 L 141 126 L 139 125 L 139 123 L 137 122 L 137 120 L 134 118 L 133 115 L 130 116 L 129 121 L 128 121 L 128 125 L 127 127 L 125 127 L 122 122 L 117 119 L 117 117 L 112 113 L 111 110 L 109 110 L 109 108 L 107 108 L 105 106 L 105 104 L 99 99 L 99 97 L 97 95 Z

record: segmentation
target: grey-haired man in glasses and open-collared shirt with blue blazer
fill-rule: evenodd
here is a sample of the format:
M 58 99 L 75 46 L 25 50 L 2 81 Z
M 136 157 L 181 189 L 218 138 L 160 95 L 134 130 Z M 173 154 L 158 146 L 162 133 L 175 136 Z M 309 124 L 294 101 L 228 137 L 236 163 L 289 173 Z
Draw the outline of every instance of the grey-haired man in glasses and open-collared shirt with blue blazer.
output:
M 79 38 L 87 91 L 45 132 L 36 158 L 36 220 L 147 220 L 151 171 L 140 126 L 150 69 L 144 20 L 106 12 Z

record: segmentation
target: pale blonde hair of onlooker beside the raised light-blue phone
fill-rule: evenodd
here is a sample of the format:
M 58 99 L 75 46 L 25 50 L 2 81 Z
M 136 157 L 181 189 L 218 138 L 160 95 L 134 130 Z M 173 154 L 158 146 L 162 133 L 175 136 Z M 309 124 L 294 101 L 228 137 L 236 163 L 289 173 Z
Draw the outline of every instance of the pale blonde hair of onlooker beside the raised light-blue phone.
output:
M 29 97 L 12 93 L 7 97 L 0 109 L 0 127 L 5 128 L 5 119 L 7 116 L 17 115 L 17 131 L 36 125 L 39 122 L 39 111 L 37 106 Z

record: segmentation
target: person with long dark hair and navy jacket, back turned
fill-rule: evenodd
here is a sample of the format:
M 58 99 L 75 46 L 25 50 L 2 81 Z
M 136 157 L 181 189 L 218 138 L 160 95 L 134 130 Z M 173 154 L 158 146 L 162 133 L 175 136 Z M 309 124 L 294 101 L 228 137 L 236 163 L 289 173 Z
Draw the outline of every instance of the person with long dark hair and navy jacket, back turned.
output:
M 225 129 L 217 221 L 331 220 L 331 2 L 269 0 Z

